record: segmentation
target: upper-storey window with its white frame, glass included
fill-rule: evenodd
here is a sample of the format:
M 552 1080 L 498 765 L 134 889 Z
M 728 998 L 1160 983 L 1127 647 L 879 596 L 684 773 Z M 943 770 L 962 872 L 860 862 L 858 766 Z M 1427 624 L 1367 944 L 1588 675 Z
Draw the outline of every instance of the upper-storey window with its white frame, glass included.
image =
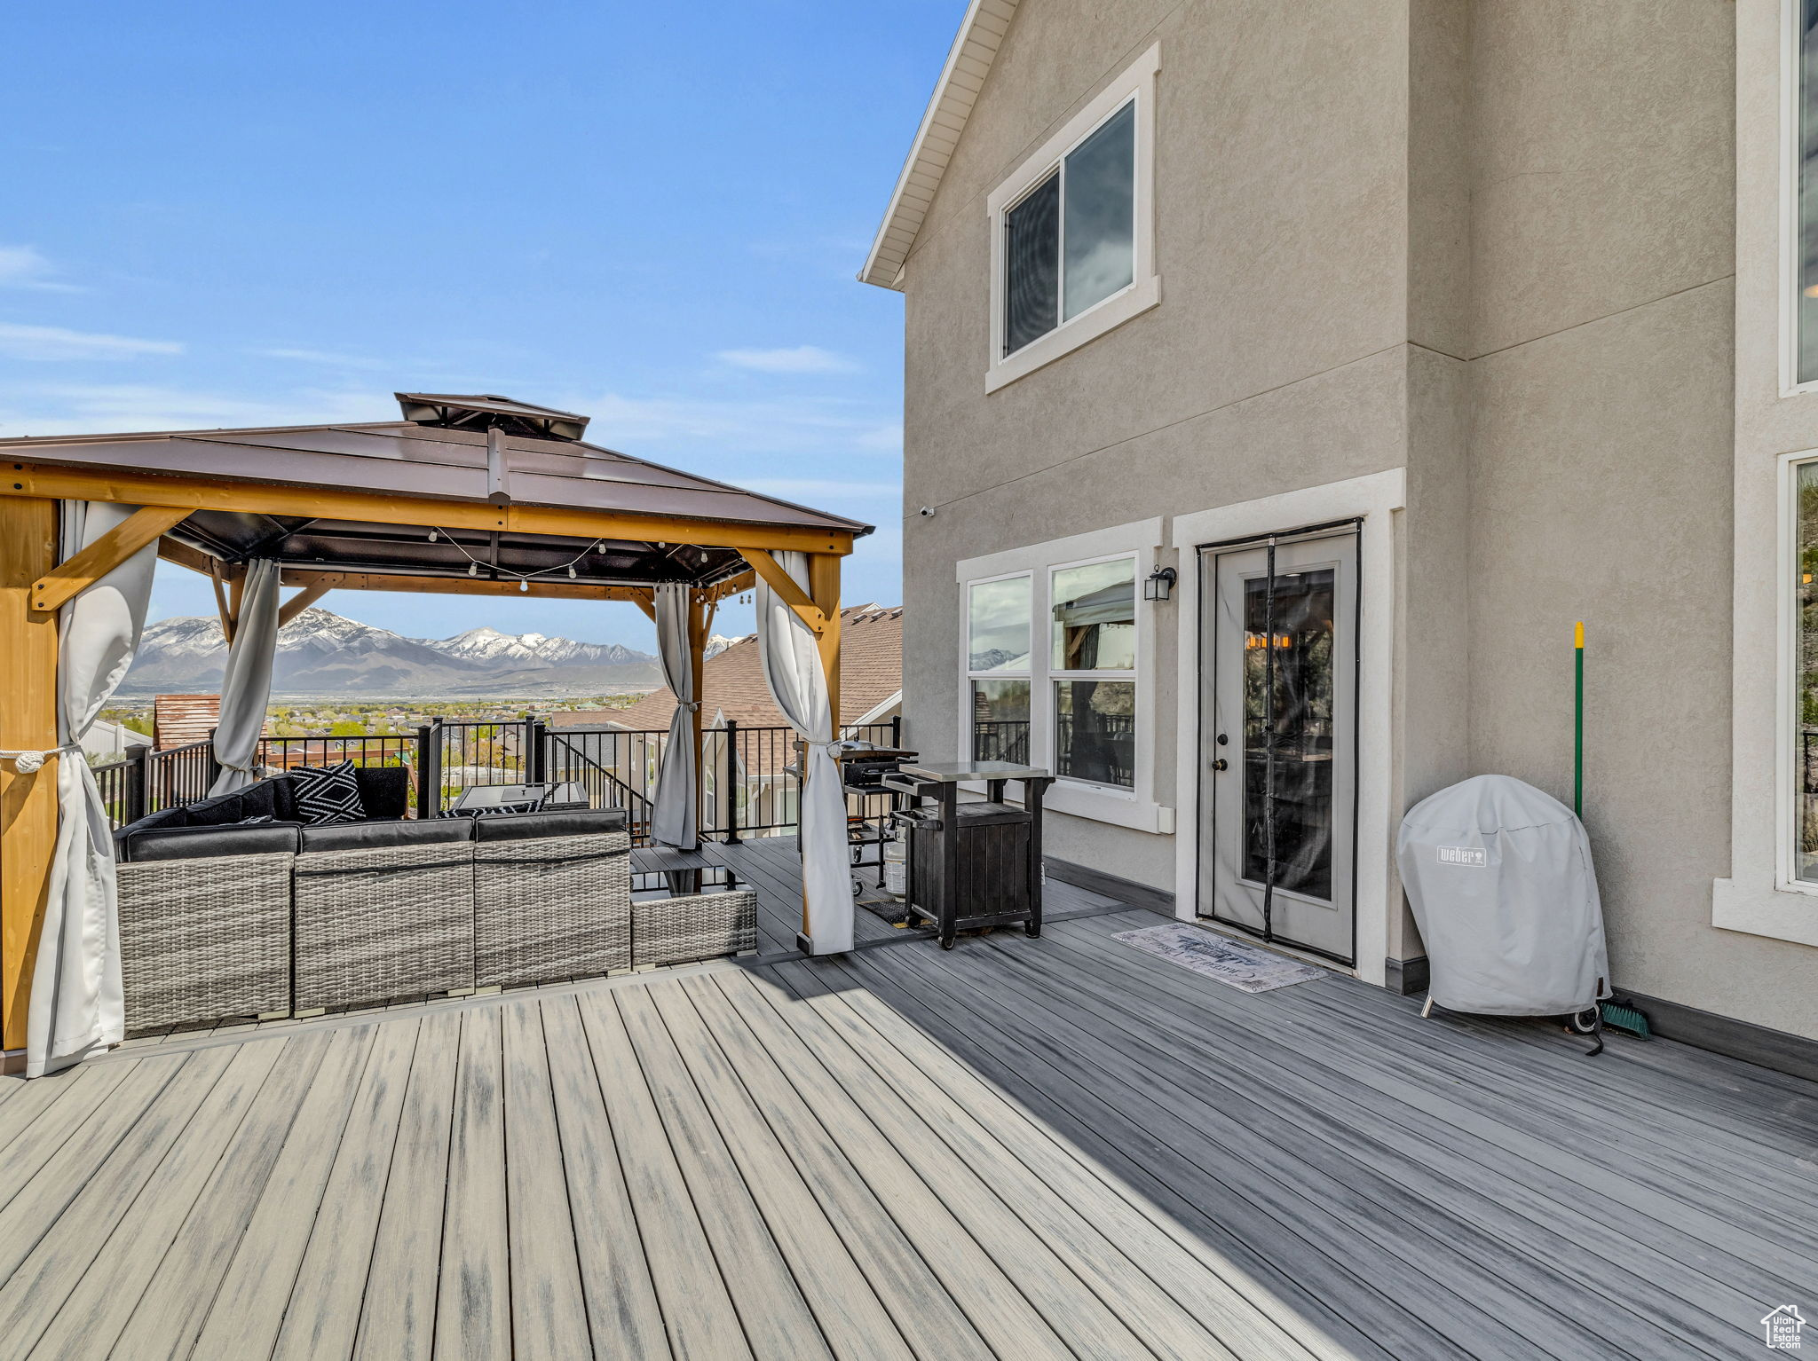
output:
M 1156 49 L 991 194 L 991 363 L 1014 382 L 1160 300 L 1151 262 Z

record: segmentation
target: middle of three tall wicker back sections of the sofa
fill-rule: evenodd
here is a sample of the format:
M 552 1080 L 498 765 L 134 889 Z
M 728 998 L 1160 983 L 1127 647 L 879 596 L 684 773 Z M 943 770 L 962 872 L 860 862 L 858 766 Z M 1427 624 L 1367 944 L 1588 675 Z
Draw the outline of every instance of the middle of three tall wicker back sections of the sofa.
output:
M 473 841 L 311 850 L 318 830 L 293 874 L 296 1008 L 473 988 Z

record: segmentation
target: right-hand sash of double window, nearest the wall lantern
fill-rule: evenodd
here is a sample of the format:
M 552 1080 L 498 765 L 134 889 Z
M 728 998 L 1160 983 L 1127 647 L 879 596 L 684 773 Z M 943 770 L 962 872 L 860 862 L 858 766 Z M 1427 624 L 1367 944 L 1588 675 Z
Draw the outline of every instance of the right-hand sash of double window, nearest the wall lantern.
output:
M 1060 567 L 1053 601 L 1054 774 L 1136 785 L 1136 560 Z

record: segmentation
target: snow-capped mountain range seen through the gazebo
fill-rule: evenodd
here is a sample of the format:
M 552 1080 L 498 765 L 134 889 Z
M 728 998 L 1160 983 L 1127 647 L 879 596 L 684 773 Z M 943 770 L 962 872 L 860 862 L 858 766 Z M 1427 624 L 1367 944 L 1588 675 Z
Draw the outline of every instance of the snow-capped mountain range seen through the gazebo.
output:
M 118 694 L 216 690 L 227 647 L 216 620 L 147 625 Z M 347 700 L 567 698 L 651 690 L 664 683 L 649 652 L 545 634 L 469 629 L 453 638 L 405 638 L 389 629 L 305 609 L 278 632 L 275 696 Z

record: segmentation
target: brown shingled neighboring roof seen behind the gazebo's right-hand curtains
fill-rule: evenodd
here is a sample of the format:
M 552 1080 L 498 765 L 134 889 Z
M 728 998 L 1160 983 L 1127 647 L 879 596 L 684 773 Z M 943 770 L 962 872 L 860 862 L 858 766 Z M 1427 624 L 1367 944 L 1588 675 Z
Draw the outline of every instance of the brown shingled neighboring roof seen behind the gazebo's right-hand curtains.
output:
M 851 725 L 887 712 L 904 687 L 904 611 L 902 605 L 856 605 L 840 611 L 840 723 Z M 667 689 L 654 690 L 631 709 L 576 709 L 551 714 L 554 727 L 594 727 L 609 723 L 631 732 L 658 732 L 669 727 L 676 698 Z M 740 727 L 785 727 L 758 665 L 756 634 L 740 638 L 702 667 L 702 714 L 707 723 L 731 718 Z

